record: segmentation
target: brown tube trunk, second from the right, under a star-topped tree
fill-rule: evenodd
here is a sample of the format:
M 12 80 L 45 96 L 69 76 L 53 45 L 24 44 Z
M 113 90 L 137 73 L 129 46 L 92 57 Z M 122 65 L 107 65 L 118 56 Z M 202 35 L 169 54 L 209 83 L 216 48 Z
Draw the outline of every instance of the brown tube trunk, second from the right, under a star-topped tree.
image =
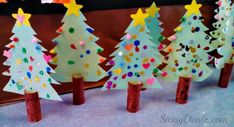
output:
M 179 77 L 176 92 L 176 102 L 179 104 L 186 104 L 189 96 L 189 87 L 191 78 Z

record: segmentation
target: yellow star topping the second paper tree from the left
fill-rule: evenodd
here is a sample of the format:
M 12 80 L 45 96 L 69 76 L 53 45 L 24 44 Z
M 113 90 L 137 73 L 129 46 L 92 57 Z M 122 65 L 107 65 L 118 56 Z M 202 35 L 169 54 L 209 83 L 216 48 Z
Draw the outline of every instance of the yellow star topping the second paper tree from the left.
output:
M 79 16 L 79 10 L 81 8 L 83 8 L 82 5 L 80 4 L 76 4 L 76 1 L 75 0 L 71 0 L 70 3 L 66 3 L 64 4 L 64 6 L 68 9 L 67 10 L 67 15 L 71 15 L 71 14 L 74 14 L 75 16 Z

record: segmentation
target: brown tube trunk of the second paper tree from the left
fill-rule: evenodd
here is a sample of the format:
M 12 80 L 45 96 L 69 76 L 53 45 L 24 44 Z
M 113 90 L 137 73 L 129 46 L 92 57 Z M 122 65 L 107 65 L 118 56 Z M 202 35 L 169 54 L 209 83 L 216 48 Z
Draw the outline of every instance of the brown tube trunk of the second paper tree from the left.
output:
M 82 105 L 85 103 L 84 78 L 80 74 L 72 75 L 73 83 L 73 104 Z

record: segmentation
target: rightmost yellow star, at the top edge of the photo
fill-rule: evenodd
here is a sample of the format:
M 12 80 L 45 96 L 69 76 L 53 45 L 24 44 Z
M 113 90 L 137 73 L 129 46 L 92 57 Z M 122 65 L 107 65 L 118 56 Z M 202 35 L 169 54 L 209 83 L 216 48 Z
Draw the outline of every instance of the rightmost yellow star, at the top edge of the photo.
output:
M 191 5 L 186 5 L 185 8 L 187 9 L 187 15 L 190 16 L 192 14 L 199 14 L 200 12 L 200 8 L 201 8 L 201 4 L 197 4 L 196 0 L 192 1 Z

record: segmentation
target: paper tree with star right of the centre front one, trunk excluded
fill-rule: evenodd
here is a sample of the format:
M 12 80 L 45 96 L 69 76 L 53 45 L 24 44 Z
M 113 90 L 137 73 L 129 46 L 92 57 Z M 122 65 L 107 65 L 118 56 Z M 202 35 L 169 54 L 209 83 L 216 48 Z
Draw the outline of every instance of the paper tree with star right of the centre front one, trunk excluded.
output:
M 211 59 L 207 52 L 214 47 L 209 44 L 211 37 L 202 24 L 201 6 L 195 0 L 186 5 L 187 12 L 175 29 L 176 34 L 169 38 L 172 42 L 166 48 L 169 52 L 168 65 L 164 69 L 168 72 L 166 80 L 178 81 L 179 77 L 185 77 L 202 81 L 212 74 L 206 63 Z

